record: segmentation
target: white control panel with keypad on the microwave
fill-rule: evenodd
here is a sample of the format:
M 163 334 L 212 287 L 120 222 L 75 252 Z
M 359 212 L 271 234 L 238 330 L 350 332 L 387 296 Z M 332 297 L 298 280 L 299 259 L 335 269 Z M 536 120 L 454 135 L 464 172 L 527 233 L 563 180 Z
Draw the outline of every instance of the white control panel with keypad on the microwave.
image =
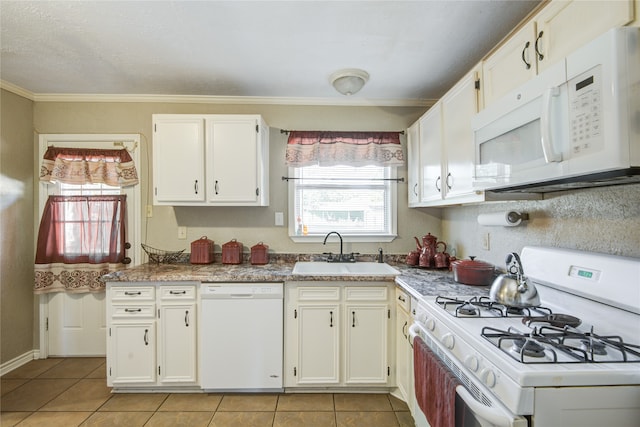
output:
M 568 89 L 571 157 L 602 150 L 602 66 L 571 79 Z

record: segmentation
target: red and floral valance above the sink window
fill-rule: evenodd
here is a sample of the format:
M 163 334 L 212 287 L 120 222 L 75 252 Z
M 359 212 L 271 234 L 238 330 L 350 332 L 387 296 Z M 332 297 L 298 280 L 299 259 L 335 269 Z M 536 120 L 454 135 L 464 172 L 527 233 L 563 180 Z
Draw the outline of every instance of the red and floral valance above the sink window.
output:
M 402 166 L 398 132 L 291 131 L 287 166 Z

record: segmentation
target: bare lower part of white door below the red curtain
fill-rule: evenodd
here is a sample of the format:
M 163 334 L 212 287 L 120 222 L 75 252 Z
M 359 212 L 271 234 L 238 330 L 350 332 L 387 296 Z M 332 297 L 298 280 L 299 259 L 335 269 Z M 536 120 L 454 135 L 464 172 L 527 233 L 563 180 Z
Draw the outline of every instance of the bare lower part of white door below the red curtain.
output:
M 104 356 L 105 293 L 49 296 L 49 355 Z

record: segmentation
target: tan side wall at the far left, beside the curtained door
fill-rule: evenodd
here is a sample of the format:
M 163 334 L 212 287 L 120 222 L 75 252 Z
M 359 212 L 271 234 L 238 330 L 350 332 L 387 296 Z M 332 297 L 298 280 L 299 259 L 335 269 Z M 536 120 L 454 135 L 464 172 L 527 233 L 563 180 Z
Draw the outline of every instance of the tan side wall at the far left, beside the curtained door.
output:
M 0 208 L 0 364 L 34 348 L 33 103 L 0 91 L 0 174 L 24 184 L 24 194 Z

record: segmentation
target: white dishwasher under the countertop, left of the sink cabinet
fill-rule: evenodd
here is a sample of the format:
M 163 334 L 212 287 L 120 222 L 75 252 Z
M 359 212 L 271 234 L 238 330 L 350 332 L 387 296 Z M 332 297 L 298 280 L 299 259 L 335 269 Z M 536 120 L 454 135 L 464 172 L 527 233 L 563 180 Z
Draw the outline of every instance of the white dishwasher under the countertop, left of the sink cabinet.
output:
M 200 297 L 201 387 L 281 391 L 283 284 L 202 283 Z

